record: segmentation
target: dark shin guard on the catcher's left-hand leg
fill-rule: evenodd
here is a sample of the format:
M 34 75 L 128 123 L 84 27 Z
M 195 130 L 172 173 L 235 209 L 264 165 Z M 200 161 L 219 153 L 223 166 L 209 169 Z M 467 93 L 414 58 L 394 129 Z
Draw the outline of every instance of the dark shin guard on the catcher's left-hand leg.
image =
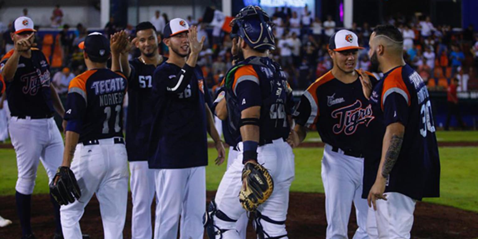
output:
M 227 236 L 227 238 L 234 238 L 234 233 L 239 238 L 239 233 L 233 229 L 221 229 L 214 224 L 214 217 L 221 219 L 227 222 L 236 222 L 237 220 L 229 218 L 226 214 L 224 214 L 221 210 L 217 210 L 216 203 L 214 202 L 214 198 L 211 200 L 211 203 L 207 207 L 207 211 L 203 216 L 203 225 L 206 229 L 207 237 L 209 239 L 222 239 L 223 234 Z

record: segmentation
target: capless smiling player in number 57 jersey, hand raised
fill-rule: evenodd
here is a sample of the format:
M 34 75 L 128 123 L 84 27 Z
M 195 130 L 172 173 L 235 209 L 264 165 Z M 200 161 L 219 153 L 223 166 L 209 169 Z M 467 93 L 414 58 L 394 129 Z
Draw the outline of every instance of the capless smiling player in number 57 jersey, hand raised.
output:
M 118 33 L 128 43 L 126 33 Z M 152 238 L 151 203 L 154 198 L 154 171 L 148 168 L 147 151 L 151 130 L 151 88 L 152 75 L 156 66 L 164 61 L 158 52 L 156 28 L 151 22 L 140 22 L 136 26 L 136 37 L 132 43 L 140 49 L 141 55 L 128 62 L 132 44 L 112 50 L 111 70 L 122 70 L 128 77 L 128 112 L 126 116 L 126 150 L 130 161 L 130 187 L 133 203 L 131 238 Z M 118 51 L 121 51 L 119 54 Z M 120 55 L 120 67 L 115 60 Z M 157 201 L 158 202 L 158 201 Z

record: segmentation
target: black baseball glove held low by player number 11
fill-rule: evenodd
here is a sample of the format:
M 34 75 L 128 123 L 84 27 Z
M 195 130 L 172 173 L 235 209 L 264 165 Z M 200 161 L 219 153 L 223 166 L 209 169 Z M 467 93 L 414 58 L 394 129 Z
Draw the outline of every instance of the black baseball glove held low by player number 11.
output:
M 55 185 L 55 179 L 58 181 Z M 81 196 L 80 187 L 76 182 L 75 174 L 69 167 L 61 166 L 56 170 L 56 174 L 50 183 L 50 194 L 61 205 L 75 202 L 75 198 L 79 199 Z

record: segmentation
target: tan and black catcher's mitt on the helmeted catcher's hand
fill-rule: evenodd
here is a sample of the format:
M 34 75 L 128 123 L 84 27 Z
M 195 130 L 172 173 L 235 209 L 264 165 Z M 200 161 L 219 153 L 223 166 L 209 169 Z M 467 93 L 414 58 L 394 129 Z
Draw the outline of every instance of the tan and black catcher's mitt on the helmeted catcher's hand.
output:
M 269 198 L 274 190 L 271 174 L 256 162 L 247 162 L 242 169 L 242 188 L 239 202 L 247 211 L 254 212 Z

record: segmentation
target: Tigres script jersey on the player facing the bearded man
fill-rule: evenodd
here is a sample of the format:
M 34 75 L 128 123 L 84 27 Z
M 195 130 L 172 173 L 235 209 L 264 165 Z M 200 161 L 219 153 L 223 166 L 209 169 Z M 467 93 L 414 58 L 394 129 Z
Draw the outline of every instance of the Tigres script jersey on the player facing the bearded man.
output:
M 372 85 L 377 79 L 369 75 Z M 324 143 L 344 151 L 361 153 L 362 138 L 374 119 L 368 99 L 357 80 L 345 84 L 329 71 L 312 83 L 301 97 L 294 112 L 295 122 L 305 127 L 316 127 Z

